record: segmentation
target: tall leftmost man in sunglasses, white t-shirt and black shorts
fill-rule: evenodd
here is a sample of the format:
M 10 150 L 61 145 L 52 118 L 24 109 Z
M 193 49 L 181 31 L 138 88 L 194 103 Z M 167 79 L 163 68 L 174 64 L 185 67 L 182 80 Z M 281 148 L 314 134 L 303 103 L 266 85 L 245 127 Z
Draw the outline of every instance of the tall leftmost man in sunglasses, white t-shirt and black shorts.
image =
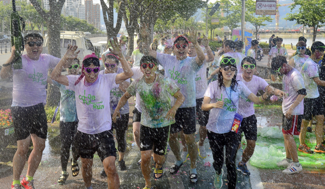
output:
M 11 56 L 3 65 L 0 73 L 2 79 L 13 77 L 12 119 L 17 140 L 17 150 L 13 158 L 13 182 L 11 188 L 34 189 L 34 174 L 38 169 L 47 136 L 47 119 L 44 109 L 46 104 L 46 83 L 48 69 L 53 69 L 59 58 L 41 54 L 43 37 L 38 33 L 24 36 L 26 54 L 21 56 L 22 69 L 14 69 L 15 47 Z M 18 47 L 17 47 L 18 48 Z M 69 62 L 73 59 L 69 58 Z M 24 169 L 30 140 L 34 148 L 28 158 L 26 176 L 20 181 Z

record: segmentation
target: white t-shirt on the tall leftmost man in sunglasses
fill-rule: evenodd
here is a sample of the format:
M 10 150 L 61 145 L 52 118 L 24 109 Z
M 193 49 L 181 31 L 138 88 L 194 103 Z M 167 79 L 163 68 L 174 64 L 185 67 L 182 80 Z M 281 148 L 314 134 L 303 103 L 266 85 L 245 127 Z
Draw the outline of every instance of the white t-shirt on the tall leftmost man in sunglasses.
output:
M 46 104 L 47 73 L 61 60 L 52 55 L 41 54 L 38 60 L 31 60 L 26 54 L 21 56 L 22 69 L 13 71 L 12 105 L 28 107 Z

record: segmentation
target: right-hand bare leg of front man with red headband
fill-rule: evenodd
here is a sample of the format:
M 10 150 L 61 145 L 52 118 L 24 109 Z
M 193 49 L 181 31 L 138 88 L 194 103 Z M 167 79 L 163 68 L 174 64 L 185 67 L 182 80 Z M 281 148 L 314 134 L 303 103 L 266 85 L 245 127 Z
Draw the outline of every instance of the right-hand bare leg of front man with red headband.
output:
M 120 179 L 116 171 L 115 160 L 116 158 L 114 156 L 110 156 L 103 161 L 104 170 L 107 175 L 108 189 L 118 189 L 120 187 Z

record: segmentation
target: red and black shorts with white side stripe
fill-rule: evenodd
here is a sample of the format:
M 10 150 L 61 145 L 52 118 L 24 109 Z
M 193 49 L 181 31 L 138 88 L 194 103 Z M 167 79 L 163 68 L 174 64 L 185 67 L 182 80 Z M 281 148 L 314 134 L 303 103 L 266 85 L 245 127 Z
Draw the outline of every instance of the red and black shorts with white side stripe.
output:
M 303 115 L 293 115 L 291 119 L 282 116 L 282 133 L 286 135 L 299 135 Z

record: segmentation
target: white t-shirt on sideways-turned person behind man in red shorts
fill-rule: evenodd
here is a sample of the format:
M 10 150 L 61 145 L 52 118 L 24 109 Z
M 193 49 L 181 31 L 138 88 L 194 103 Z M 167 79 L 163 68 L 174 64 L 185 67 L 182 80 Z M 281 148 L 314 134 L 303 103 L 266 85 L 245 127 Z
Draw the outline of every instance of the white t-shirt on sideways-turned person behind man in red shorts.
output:
M 308 58 L 303 67 L 301 74 L 303 75 L 307 95 L 305 98 L 317 98 L 319 96 L 317 84 L 313 78 L 319 77 L 317 64 L 311 59 Z

